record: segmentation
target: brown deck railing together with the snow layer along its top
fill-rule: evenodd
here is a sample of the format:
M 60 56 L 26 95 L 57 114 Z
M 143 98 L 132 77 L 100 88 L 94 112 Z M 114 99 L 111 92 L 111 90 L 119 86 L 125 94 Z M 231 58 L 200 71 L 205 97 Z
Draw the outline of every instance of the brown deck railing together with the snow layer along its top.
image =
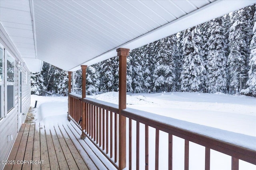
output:
M 118 119 L 119 111 L 118 105 L 103 102 L 92 98 L 84 98 L 80 95 L 69 94 L 69 116 L 78 124 L 80 117 L 82 116 L 81 106 L 82 102 L 85 103 L 85 129 L 84 133 L 94 143 L 94 145 L 108 158 L 108 160 L 118 169 L 118 152 L 119 148 L 119 134 L 118 134 Z M 244 160 L 251 164 L 256 165 L 256 149 L 255 146 L 237 146 L 237 138 L 239 140 L 252 140 L 248 135 L 233 135 L 232 132 L 216 129 L 213 127 L 207 127 L 172 119 L 170 117 L 164 117 L 161 115 L 155 115 L 145 111 L 136 109 L 124 109 L 121 111 L 121 115 L 126 117 L 127 130 L 126 135 L 128 138 L 127 152 L 128 152 L 128 169 L 139 169 L 140 167 L 148 169 L 149 166 L 154 166 L 155 169 L 159 169 L 159 147 L 160 140 L 166 141 L 166 152 L 168 152 L 168 159 L 166 161 L 166 167 L 172 170 L 173 167 L 173 137 L 180 137 L 184 139 L 184 169 L 188 170 L 189 167 L 189 147 L 191 143 L 196 143 L 205 147 L 204 166 L 206 170 L 210 169 L 210 149 L 222 152 L 229 156 L 232 156 L 232 170 L 238 170 L 239 160 Z M 79 119 L 79 120 L 78 120 Z M 80 123 L 81 125 L 81 123 Z M 189 127 L 189 128 L 186 128 Z M 207 128 L 209 134 L 203 134 L 200 129 Z M 142 130 L 143 129 L 143 130 Z M 192 131 L 191 131 L 192 129 Z M 165 138 L 160 139 L 160 133 L 166 133 Z M 214 133 L 214 135 L 212 135 Z M 154 139 L 150 139 L 150 136 Z M 228 141 L 224 140 L 224 137 Z M 151 137 L 152 138 L 152 137 Z M 135 143 L 135 146 L 132 144 Z M 150 147 L 149 145 L 154 145 Z M 151 149 L 154 150 L 151 150 Z M 142 153 L 142 151 L 144 153 Z M 152 159 L 153 154 L 153 159 Z M 149 158 L 151 156 L 151 158 Z M 135 157 L 135 159 L 134 159 Z M 143 159 L 143 160 L 142 160 Z M 135 162 L 133 161 L 135 160 Z M 161 165 L 162 166 L 162 165 Z

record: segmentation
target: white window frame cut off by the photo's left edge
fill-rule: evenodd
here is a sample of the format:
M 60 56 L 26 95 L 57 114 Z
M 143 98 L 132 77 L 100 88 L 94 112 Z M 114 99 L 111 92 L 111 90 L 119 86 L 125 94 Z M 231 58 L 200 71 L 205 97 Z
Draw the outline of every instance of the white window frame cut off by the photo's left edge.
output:
M 0 43 L 0 49 L 2 49 L 2 81 L 0 79 L 0 92 L 1 92 L 1 95 L 0 95 L 0 101 L 1 101 L 1 106 L 0 106 L 0 119 L 4 118 L 4 46 Z

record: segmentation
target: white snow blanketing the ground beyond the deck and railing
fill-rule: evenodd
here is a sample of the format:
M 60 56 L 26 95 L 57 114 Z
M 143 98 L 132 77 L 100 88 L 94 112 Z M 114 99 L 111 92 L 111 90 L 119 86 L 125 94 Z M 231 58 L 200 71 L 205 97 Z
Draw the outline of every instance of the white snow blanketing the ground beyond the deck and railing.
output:
M 87 97 L 118 104 L 118 92 L 108 92 Z M 44 124 L 56 123 L 56 121 L 66 122 L 66 113 L 68 110 L 67 97 L 32 95 L 32 107 L 34 106 L 35 100 L 38 100 L 38 109 L 34 110 L 37 121 L 43 121 Z M 222 93 L 170 92 L 128 94 L 127 107 L 156 113 L 165 117 L 172 117 L 178 123 L 178 120 L 182 120 L 181 122 L 185 123 L 183 125 L 189 125 L 186 122 L 199 124 L 198 127 L 202 125 L 200 129 L 203 131 L 202 133 L 208 130 L 204 130 L 206 126 L 212 127 L 214 133 L 219 129 L 220 132 L 230 133 L 238 139 L 243 138 L 235 142 L 238 145 L 256 150 L 256 98 Z M 182 126 L 182 123 L 178 125 Z M 192 127 L 184 127 L 184 129 L 190 128 L 192 129 Z M 143 131 L 144 129 L 141 128 L 140 133 L 143 133 Z M 153 129 L 150 131 L 153 131 Z M 154 139 L 154 135 L 150 135 L 150 137 Z M 166 138 L 166 134 L 160 133 L 161 138 Z M 165 145 L 164 143 L 160 143 L 160 169 L 167 168 L 166 164 L 164 164 L 167 156 L 167 151 L 164 149 Z M 177 170 L 184 169 L 184 140 L 174 137 L 173 145 L 173 168 Z M 154 147 L 154 145 L 151 147 Z M 143 153 L 143 149 L 140 151 Z M 150 160 L 154 162 L 153 157 L 150 157 Z M 144 167 L 144 159 L 142 158 L 141 161 L 142 167 Z M 256 169 L 255 165 L 241 160 L 239 166 L 240 170 Z M 150 169 L 153 168 L 154 165 L 150 166 Z M 190 169 L 204 169 L 204 147 L 194 143 L 190 143 Z M 211 169 L 231 169 L 231 157 L 211 150 Z

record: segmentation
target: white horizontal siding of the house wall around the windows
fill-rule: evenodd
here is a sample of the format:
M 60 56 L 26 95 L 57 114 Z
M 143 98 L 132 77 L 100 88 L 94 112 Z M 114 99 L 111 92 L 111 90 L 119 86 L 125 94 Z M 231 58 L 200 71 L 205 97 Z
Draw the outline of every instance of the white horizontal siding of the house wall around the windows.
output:
M 19 54 L 17 54 L 14 50 L 14 46 L 12 45 L 12 42 L 8 37 L 6 37 L 6 33 L 3 29 L 0 30 L 0 43 L 3 45 L 4 49 L 12 55 L 15 59 L 15 85 L 14 85 L 14 108 L 11 109 L 8 113 L 5 113 L 4 111 L 4 117 L 0 119 L 0 160 L 6 160 L 8 158 L 8 154 L 12 148 L 12 145 L 16 139 L 16 136 L 18 134 L 18 115 L 20 114 L 20 111 L 18 109 L 18 61 L 22 62 L 22 59 L 19 57 Z M 4 68 L 5 71 L 6 68 Z M 22 113 L 25 113 L 25 115 L 21 116 L 21 123 L 24 123 L 26 119 L 26 114 L 28 113 L 28 109 L 30 106 L 30 82 L 26 84 L 26 72 L 29 76 L 30 71 L 28 70 L 27 66 L 24 66 L 22 69 Z M 4 84 L 4 86 L 6 86 Z M 6 93 L 4 91 L 4 93 Z M 6 99 L 4 98 L 4 107 L 6 107 L 5 104 Z M 5 109 L 4 109 L 5 110 Z M 12 141 L 8 141 L 8 135 L 13 136 Z M 4 166 L 0 164 L 0 169 L 2 169 Z

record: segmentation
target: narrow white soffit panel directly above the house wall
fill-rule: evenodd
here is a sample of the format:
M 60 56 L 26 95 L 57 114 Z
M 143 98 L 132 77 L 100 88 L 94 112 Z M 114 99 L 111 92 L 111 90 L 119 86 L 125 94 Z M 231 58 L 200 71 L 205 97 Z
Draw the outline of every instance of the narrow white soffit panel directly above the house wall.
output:
M 35 34 L 32 24 L 32 13 L 30 1 L 28 0 L 0 0 L 0 22 L 3 25 L 8 37 L 18 51 L 18 55 L 25 61 L 36 59 Z M 28 68 L 39 68 L 38 61 L 26 64 Z M 42 61 L 41 61 L 42 63 Z M 30 66 L 30 64 L 32 64 Z M 40 71 L 30 70 L 30 71 Z

